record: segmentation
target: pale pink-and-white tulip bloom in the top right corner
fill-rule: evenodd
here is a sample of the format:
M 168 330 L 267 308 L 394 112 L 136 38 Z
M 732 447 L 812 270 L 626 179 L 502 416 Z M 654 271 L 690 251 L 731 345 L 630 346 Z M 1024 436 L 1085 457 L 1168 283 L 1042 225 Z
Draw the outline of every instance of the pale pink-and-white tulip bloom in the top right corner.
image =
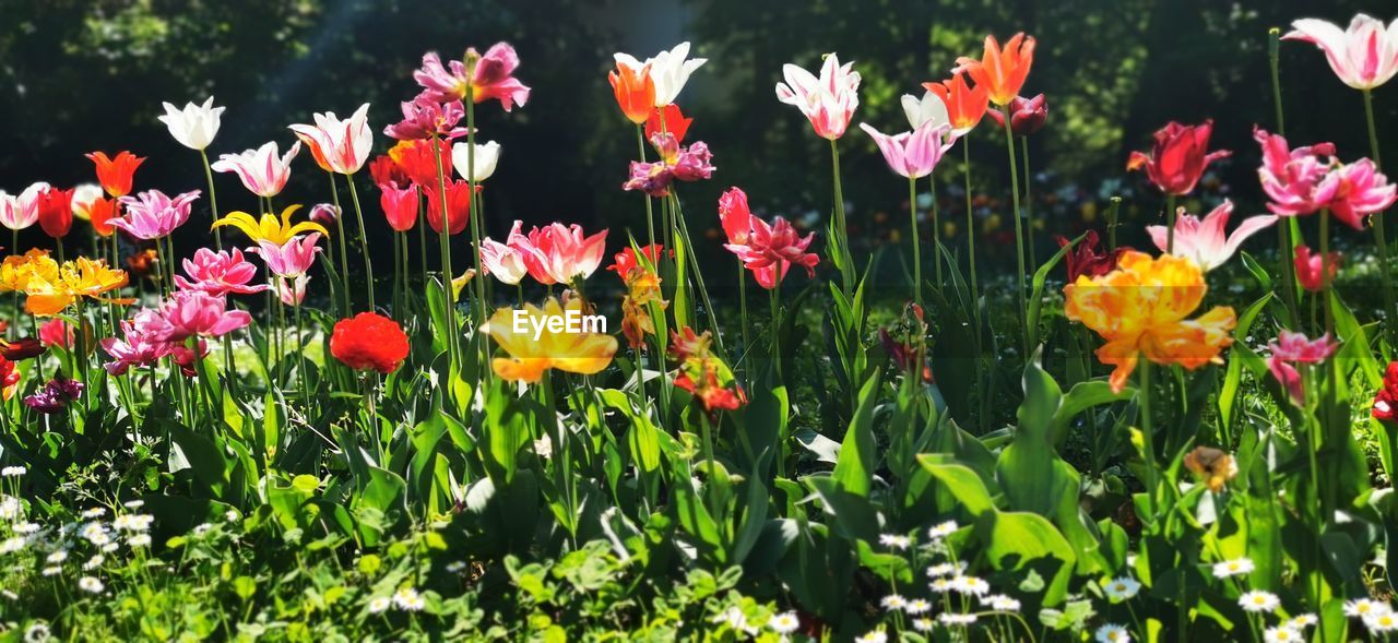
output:
M 1292 29 L 1283 41 L 1318 46 L 1341 82 L 1355 89 L 1373 89 L 1398 74 L 1398 20 L 1385 29 L 1381 20 L 1359 14 L 1341 31 L 1324 20 L 1303 18 Z

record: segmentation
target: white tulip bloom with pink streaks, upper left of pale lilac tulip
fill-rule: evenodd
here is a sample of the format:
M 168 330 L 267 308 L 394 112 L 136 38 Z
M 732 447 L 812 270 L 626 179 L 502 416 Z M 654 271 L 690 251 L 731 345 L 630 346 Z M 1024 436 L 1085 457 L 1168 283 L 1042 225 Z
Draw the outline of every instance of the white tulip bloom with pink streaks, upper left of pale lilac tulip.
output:
M 854 109 L 860 106 L 860 73 L 854 63 L 840 66 L 836 55 L 829 55 L 821 66 L 821 77 L 794 64 L 783 64 L 786 82 L 777 82 L 777 101 L 801 110 L 821 138 L 844 136 Z

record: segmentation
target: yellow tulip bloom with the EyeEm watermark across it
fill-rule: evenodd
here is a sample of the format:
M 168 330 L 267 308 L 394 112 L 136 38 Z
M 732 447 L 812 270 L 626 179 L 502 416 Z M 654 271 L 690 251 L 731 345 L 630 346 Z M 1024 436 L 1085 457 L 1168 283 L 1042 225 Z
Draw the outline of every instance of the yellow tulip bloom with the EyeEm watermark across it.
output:
M 582 299 L 559 305 L 549 298 L 544 308 L 499 309 L 481 331 L 507 354 L 491 361 L 495 375 L 509 382 L 538 382 L 548 369 L 593 375 L 611 363 L 617 338 L 591 328 L 591 313 Z

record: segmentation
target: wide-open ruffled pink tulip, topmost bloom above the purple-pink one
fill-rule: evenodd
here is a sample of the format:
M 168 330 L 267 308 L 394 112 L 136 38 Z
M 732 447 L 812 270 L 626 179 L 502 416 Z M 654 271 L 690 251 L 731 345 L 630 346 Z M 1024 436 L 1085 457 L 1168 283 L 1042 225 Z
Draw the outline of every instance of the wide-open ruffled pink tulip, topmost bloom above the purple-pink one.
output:
M 471 89 L 473 102 L 499 101 L 509 112 L 514 105 L 524 106 L 530 88 L 514 78 L 520 66 L 519 55 L 509 43 L 498 42 L 481 56 L 475 48 L 466 50 L 466 62 L 452 60 L 442 66 L 436 52 L 422 56 L 422 68 L 412 78 L 425 89 L 422 94 L 438 102 L 460 101 Z

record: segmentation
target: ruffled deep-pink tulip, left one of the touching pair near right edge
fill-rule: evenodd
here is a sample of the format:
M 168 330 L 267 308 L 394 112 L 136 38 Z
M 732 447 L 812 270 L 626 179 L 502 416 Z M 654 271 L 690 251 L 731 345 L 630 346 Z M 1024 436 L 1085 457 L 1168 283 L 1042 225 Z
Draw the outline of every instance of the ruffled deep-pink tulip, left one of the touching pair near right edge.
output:
M 1335 161 L 1335 145 L 1317 143 L 1292 150 L 1286 138 L 1262 129 L 1254 129 L 1253 138 L 1262 147 L 1262 166 L 1257 168 L 1257 176 L 1269 198 L 1267 208 L 1282 217 L 1320 210 L 1323 203 L 1317 201 L 1316 189 Z

